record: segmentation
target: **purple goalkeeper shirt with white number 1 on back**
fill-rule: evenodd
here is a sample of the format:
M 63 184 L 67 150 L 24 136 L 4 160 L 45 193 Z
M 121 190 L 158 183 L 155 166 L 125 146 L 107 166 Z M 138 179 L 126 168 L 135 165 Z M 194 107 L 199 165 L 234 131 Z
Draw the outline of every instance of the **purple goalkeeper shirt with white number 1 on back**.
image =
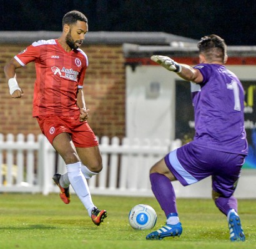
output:
M 224 65 L 199 64 L 204 81 L 191 83 L 195 114 L 194 144 L 235 154 L 248 154 L 244 128 L 244 88 Z

